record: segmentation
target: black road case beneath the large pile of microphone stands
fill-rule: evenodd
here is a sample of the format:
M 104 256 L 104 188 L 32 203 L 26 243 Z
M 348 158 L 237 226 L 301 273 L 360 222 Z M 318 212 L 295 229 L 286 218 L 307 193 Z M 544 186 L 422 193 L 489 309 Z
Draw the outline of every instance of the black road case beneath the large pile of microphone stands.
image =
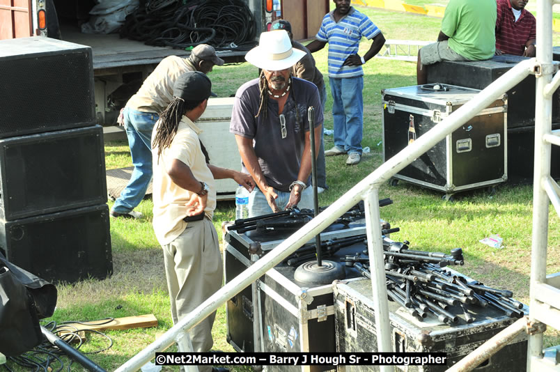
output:
M 450 270 L 446 268 L 446 270 Z M 452 271 L 452 270 L 451 270 Z M 337 281 L 334 286 L 334 318 L 336 320 L 336 352 L 375 352 L 378 350 L 377 331 L 371 279 Z M 451 308 L 450 308 L 451 309 Z M 440 323 L 428 316 L 417 320 L 396 302 L 389 302 L 391 341 L 395 352 L 446 352 L 446 366 L 398 366 L 398 371 L 446 371 L 467 354 L 511 325 L 516 318 L 504 316 L 490 307 L 469 307 L 474 317 L 467 323 L 463 313 L 457 313 L 457 325 Z M 472 310 L 476 309 L 476 310 Z M 524 313 L 529 308 L 524 306 Z M 497 354 L 485 360 L 474 371 L 525 371 L 527 334 L 519 334 Z M 339 371 L 378 371 L 378 366 L 339 366 Z

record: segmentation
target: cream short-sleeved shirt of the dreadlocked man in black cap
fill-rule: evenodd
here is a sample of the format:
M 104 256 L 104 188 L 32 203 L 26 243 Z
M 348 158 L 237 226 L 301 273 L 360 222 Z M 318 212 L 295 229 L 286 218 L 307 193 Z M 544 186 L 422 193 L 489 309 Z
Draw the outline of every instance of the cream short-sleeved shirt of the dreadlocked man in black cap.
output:
M 158 121 L 155 125 L 160 124 Z M 156 130 L 152 134 L 152 144 Z M 212 219 L 216 209 L 216 186 L 214 176 L 206 164 L 201 150 L 199 134 L 201 130 L 187 116 L 183 116 L 171 146 L 164 148 L 158 158 L 157 148 L 153 148 L 153 227 L 160 245 L 166 245 L 175 240 L 187 227 L 183 218 L 187 217 L 187 202 L 192 193 L 173 183 L 166 167 L 173 159 L 187 164 L 199 181 L 210 187 L 208 202 L 204 210 L 205 215 Z

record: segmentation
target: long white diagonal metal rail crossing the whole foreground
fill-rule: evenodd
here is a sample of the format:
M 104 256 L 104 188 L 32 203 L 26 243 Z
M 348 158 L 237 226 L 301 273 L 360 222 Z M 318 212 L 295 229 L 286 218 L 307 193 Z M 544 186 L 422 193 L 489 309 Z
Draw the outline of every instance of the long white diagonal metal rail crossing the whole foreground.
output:
M 208 300 L 205 300 L 199 305 L 199 307 L 196 307 L 196 309 L 194 309 L 191 313 L 182 318 L 179 323 L 173 325 L 173 327 L 165 332 L 160 339 L 151 343 L 147 348 L 116 369 L 116 372 L 137 371 L 137 369 L 139 369 L 143 364 L 155 357 L 155 352 L 163 351 L 166 348 L 169 348 L 169 346 L 173 344 L 176 334 L 189 330 L 194 327 L 194 325 L 200 323 L 201 320 L 209 316 L 210 313 L 216 311 L 221 304 L 224 304 L 224 302 L 265 274 L 267 270 L 274 268 L 274 266 L 281 263 L 283 259 L 288 257 L 290 254 L 293 254 L 296 249 L 313 239 L 315 235 L 336 221 L 336 219 L 355 206 L 355 204 L 360 200 L 369 200 L 369 203 L 371 203 L 371 201 L 375 199 L 375 196 L 371 199 L 371 192 L 377 192 L 380 185 L 389 180 L 391 176 L 394 176 L 395 173 L 410 164 L 417 157 L 426 153 L 426 151 L 435 146 L 438 142 L 442 141 L 447 134 L 457 130 L 463 123 L 466 123 L 476 116 L 476 114 L 478 114 L 481 110 L 488 107 L 491 102 L 494 102 L 501 97 L 504 92 L 520 83 L 529 75 L 533 68 L 534 59 L 527 59 L 508 70 L 508 72 L 499 77 L 499 79 L 492 82 L 492 84 L 477 94 L 476 97 L 462 105 L 462 107 L 445 118 L 441 123 L 435 125 L 435 127 L 426 132 L 426 134 L 419 137 L 413 144 L 407 146 L 407 148 L 400 151 L 400 153 L 396 154 L 394 157 L 391 157 L 391 159 L 387 160 L 387 162 L 384 162 L 378 169 L 375 169 L 375 171 L 370 173 L 366 176 L 366 178 L 361 180 L 352 187 L 352 189 L 341 196 L 340 199 L 334 201 L 331 206 L 326 208 L 317 217 L 313 218 L 305 226 L 300 228 L 300 230 L 296 231 L 293 235 L 281 242 L 281 244 L 272 249 L 263 258 L 256 261 L 253 265 L 247 268 L 247 270 L 242 272 L 242 274 L 225 284 L 214 295 L 208 298 Z M 377 215 L 379 215 L 379 212 L 377 212 Z M 370 221 L 369 224 L 373 225 L 369 228 L 371 228 L 371 233 L 374 235 L 373 230 L 380 229 L 379 222 Z M 375 239 L 375 246 L 370 247 L 369 249 L 378 251 L 377 254 L 380 254 L 383 249 L 382 242 L 380 239 L 376 238 L 376 234 L 378 233 L 371 236 L 371 238 Z M 375 254 L 373 256 L 375 256 Z M 375 283 L 372 283 L 372 286 L 375 288 Z M 382 302 L 380 298 L 383 296 L 386 301 L 386 288 L 384 288 L 384 291 L 381 293 L 374 293 L 374 297 L 378 298 L 379 303 Z M 380 309 L 380 311 L 384 311 L 388 316 L 388 311 L 385 309 Z M 382 326 L 389 327 L 389 324 L 387 322 L 387 324 Z M 380 352 L 392 351 L 391 348 L 387 346 L 384 337 L 380 339 L 380 342 L 382 342 L 382 345 L 378 348 Z

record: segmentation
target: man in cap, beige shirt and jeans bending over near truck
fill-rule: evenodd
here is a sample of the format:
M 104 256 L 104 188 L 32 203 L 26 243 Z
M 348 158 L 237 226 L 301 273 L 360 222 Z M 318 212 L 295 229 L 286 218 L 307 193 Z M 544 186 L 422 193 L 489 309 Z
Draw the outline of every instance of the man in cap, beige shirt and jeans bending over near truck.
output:
M 111 217 L 141 218 L 134 208 L 142 201 L 152 179 L 150 138 L 160 113 L 173 99 L 173 83 L 187 71 L 212 71 L 214 65 L 223 65 L 210 45 L 197 45 L 187 59 L 169 56 L 163 59 L 146 78 L 139 91 L 128 100 L 123 110 L 125 126 L 134 170 L 128 185 L 111 208 Z

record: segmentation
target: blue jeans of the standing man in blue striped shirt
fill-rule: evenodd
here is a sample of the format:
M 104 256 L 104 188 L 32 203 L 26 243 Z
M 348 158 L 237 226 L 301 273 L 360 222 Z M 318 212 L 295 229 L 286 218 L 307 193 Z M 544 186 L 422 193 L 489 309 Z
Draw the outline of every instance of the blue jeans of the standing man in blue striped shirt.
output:
M 329 77 L 332 93 L 334 146 L 361 155 L 364 131 L 364 77 Z

